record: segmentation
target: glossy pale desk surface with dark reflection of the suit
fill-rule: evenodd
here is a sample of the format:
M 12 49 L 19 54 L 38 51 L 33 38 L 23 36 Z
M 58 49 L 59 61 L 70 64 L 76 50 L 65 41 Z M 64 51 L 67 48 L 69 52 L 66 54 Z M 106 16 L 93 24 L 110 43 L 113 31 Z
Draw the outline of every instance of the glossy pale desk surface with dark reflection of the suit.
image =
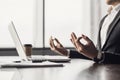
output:
M 14 74 L 11 80 L 119 80 L 120 65 L 95 64 L 93 61 L 72 59 L 64 67 L 50 68 L 13 68 L 0 72 Z M 8 75 L 8 74 L 7 74 Z M 7 76 L 6 75 L 6 76 Z

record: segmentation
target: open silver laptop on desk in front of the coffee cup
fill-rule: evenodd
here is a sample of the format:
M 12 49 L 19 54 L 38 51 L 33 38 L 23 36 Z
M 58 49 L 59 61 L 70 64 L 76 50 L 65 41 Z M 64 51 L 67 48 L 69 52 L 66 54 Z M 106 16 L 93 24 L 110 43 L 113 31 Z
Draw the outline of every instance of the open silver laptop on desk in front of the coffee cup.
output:
M 24 47 L 21 43 L 21 40 L 19 38 L 19 35 L 17 33 L 17 30 L 15 28 L 14 23 L 11 21 L 11 23 L 8 25 L 9 32 L 12 36 L 12 39 L 15 43 L 16 50 L 18 52 L 18 55 L 21 59 L 21 61 L 32 61 L 32 62 L 43 62 L 43 61 L 51 61 L 51 62 L 69 62 L 70 58 L 65 56 L 50 56 L 50 55 L 40 55 L 40 56 L 32 56 L 31 58 L 28 58 L 25 54 Z

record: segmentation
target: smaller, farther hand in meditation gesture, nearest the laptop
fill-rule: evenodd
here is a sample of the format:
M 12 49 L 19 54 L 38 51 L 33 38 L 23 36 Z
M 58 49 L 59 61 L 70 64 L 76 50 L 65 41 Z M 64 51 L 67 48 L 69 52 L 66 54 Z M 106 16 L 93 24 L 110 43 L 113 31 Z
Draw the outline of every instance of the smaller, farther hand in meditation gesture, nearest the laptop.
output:
M 67 49 L 65 49 L 62 44 L 59 42 L 58 39 L 53 39 L 52 36 L 50 37 L 50 49 L 56 53 L 59 53 L 61 55 L 67 56 L 68 55 L 68 51 Z M 55 45 L 56 43 L 56 45 Z

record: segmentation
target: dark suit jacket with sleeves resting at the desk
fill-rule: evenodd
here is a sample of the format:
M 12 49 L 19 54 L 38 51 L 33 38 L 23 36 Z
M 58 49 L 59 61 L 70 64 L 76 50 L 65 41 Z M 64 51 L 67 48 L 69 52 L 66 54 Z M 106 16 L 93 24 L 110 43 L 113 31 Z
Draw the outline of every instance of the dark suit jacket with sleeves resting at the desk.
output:
M 100 31 L 107 15 L 101 20 L 98 33 L 97 49 L 104 52 L 101 63 L 120 64 L 120 11 L 110 24 L 107 32 L 105 44 L 101 48 Z M 76 51 L 70 51 L 71 58 L 89 59 Z

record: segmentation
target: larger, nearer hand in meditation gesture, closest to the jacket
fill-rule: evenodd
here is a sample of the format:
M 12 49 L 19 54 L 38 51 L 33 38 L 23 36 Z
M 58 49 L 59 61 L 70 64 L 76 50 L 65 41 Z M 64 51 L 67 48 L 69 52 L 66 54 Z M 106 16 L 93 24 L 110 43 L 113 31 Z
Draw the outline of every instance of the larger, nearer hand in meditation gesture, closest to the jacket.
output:
M 80 41 L 81 39 L 85 40 L 87 43 L 83 44 Z M 93 59 L 98 54 L 98 51 L 95 48 L 93 42 L 85 35 L 82 35 L 82 36 L 77 38 L 75 33 L 72 33 L 71 34 L 71 42 L 75 46 L 76 50 L 79 53 L 85 55 L 86 57 L 89 57 L 89 58 Z

